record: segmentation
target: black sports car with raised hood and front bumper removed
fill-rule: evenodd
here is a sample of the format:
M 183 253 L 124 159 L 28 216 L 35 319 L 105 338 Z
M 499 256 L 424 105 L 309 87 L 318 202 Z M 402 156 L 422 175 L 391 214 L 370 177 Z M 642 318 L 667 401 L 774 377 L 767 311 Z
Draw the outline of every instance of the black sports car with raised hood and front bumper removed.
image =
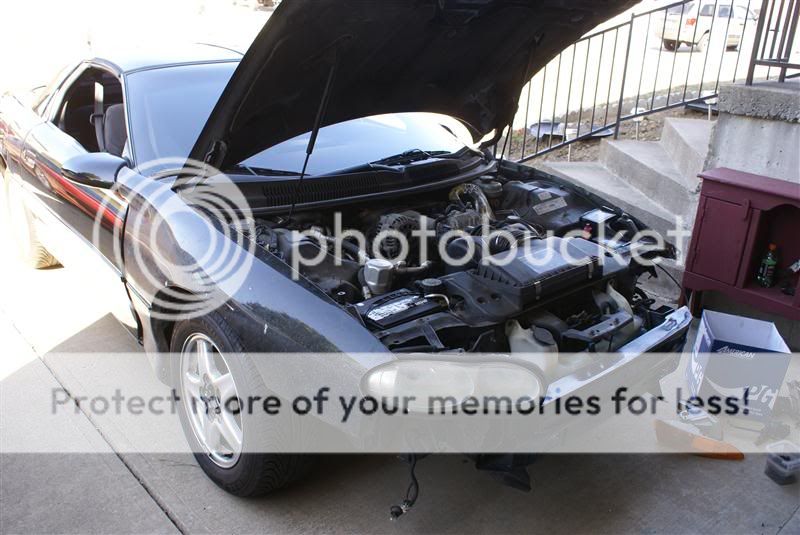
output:
M 245 55 L 83 61 L 32 105 L 0 103 L 22 256 L 108 279 L 159 378 L 205 405 L 180 405 L 187 439 L 238 495 L 288 483 L 307 457 L 259 449 L 263 422 L 221 402 L 314 375 L 298 361 L 279 380 L 245 353 L 346 356 L 313 365 L 376 395 L 421 354 L 506 355 L 531 396 L 615 376 L 653 386 L 676 363 L 642 353 L 681 348 L 690 315 L 653 306 L 635 253 L 672 248 L 491 150 L 527 80 L 632 3 L 287 0 Z M 441 245 L 427 258 L 403 245 L 423 232 Z M 595 351 L 619 357 L 598 365 Z

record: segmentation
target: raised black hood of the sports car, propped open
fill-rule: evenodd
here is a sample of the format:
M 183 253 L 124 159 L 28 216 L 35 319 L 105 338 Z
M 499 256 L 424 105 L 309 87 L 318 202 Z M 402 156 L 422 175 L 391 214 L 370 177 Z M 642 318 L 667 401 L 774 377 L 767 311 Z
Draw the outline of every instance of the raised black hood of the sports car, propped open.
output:
M 435 112 L 481 139 L 527 81 L 636 0 L 284 0 L 242 59 L 190 157 L 226 169 L 321 126 Z M 333 74 L 331 74 L 333 71 Z

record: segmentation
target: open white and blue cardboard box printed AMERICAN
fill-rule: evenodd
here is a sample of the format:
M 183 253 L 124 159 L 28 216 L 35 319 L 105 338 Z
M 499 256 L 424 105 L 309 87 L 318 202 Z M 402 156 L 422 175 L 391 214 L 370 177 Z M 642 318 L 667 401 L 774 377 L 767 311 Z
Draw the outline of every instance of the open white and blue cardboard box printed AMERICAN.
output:
M 705 310 L 686 370 L 689 391 L 701 399 L 742 399 L 748 389 L 748 414 L 740 416 L 765 420 L 790 359 L 774 323 Z

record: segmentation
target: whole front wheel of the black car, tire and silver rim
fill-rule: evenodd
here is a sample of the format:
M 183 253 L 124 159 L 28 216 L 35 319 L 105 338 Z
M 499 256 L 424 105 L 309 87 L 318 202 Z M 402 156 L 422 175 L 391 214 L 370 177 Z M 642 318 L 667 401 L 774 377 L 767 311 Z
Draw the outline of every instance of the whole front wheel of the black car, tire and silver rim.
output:
M 239 338 L 216 313 L 175 326 L 171 341 L 173 384 L 184 434 L 206 475 L 227 492 L 261 496 L 299 479 L 309 457 L 262 453 L 269 417 L 241 410 L 265 387 Z M 264 443 L 266 442 L 266 443 Z

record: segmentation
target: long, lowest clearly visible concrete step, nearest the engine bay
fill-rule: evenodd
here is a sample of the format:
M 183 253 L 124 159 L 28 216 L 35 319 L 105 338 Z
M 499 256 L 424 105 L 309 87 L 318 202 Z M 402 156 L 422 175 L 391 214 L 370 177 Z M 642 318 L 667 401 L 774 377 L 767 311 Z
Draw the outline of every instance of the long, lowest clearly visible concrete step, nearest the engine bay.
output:
M 675 227 L 671 213 L 597 162 L 541 162 L 535 166 L 608 199 L 666 239 L 667 231 Z

